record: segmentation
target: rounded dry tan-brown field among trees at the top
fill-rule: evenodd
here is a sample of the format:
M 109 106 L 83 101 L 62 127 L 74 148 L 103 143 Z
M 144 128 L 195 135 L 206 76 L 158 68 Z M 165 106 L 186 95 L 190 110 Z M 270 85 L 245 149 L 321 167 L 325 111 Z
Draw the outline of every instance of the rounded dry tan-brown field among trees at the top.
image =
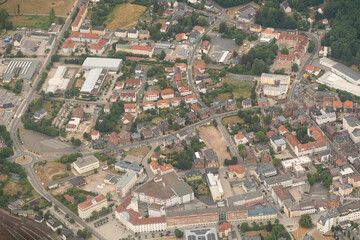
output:
M 141 14 L 146 7 L 136 4 L 121 4 L 109 14 L 106 28 L 116 30 L 117 28 L 130 29 L 136 26 Z

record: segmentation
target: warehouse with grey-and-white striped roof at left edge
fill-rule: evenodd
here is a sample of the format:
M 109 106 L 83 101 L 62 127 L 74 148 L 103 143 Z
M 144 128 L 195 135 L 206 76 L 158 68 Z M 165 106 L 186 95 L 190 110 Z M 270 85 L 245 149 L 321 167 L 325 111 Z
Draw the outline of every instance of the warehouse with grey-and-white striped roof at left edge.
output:
M 12 60 L 2 75 L 3 81 L 8 83 L 11 79 L 31 80 L 39 65 L 39 60 Z

